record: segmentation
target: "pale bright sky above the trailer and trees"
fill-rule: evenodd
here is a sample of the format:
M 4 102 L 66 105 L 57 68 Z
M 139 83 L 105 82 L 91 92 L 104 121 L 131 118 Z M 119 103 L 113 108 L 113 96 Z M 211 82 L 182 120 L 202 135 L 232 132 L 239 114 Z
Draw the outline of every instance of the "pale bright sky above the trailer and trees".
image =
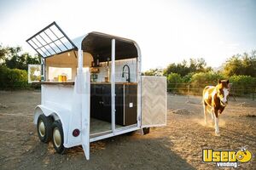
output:
M 100 31 L 136 41 L 143 71 L 183 59 L 218 67 L 256 49 L 256 0 L 0 0 L 0 43 L 36 52 L 26 39 L 51 22 L 71 39 Z

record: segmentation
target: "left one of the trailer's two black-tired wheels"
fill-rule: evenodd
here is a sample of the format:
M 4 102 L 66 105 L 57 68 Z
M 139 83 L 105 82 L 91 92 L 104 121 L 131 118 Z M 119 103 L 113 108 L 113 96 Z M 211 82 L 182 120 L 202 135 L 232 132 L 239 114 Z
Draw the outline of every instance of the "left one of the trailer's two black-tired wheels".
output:
M 44 115 L 38 116 L 38 124 L 37 124 L 38 137 L 44 143 L 48 143 L 51 140 L 52 123 L 53 123 L 53 120 L 51 117 L 47 117 Z

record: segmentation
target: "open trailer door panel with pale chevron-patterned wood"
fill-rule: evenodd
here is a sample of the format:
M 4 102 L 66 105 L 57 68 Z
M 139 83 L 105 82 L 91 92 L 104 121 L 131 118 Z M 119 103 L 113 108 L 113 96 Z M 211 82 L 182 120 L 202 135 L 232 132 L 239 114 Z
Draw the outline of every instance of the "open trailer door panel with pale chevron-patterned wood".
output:
M 142 77 L 143 127 L 166 125 L 166 77 Z

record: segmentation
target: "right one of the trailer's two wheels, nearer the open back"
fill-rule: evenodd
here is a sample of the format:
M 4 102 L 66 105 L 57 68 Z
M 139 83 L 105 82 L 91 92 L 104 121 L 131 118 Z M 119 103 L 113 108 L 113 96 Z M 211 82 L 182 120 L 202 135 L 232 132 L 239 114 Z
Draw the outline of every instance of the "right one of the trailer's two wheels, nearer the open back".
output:
M 57 153 L 65 153 L 66 148 L 63 145 L 63 129 L 61 121 L 55 121 L 52 124 L 52 144 Z

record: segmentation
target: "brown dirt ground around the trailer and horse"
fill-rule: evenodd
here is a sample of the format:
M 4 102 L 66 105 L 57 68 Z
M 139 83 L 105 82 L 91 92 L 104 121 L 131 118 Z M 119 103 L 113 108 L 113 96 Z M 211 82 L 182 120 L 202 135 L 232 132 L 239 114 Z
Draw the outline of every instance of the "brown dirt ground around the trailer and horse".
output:
M 0 92 L 1 169 L 215 169 L 202 162 L 202 149 L 239 150 L 246 146 L 253 160 L 240 169 L 256 169 L 256 101 L 230 100 L 220 118 L 221 136 L 204 125 L 200 97 L 168 95 L 167 126 L 147 135 L 120 135 L 90 144 L 90 161 L 81 147 L 55 153 L 38 139 L 32 123 L 40 92 Z M 210 116 L 209 116 L 210 120 Z M 209 122 L 210 124 L 210 122 Z

